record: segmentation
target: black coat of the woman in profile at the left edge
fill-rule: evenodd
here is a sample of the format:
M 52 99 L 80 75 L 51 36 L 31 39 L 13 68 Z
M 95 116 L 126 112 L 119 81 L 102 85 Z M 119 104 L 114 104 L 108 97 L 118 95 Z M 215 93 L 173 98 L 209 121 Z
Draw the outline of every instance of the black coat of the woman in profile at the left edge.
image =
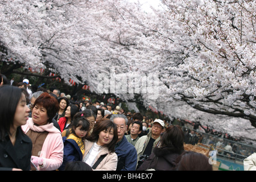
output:
M 13 168 L 30 170 L 31 151 L 31 139 L 23 133 L 20 127 L 17 128 L 14 146 L 9 135 L 6 134 L 5 140 L 0 139 L 0 171 L 11 171 Z

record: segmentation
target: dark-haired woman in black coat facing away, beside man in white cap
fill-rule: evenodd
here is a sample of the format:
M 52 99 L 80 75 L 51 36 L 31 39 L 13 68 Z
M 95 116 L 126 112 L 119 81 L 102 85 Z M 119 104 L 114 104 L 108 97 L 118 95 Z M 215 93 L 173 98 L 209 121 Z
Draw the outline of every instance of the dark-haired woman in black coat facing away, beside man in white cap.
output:
M 176 159 L 184 151 L 184 133 L 178 125 L 168 127 L 160 140 L 160 147 L 154 148 L 138 171 L 172 171 L 176 168 Z

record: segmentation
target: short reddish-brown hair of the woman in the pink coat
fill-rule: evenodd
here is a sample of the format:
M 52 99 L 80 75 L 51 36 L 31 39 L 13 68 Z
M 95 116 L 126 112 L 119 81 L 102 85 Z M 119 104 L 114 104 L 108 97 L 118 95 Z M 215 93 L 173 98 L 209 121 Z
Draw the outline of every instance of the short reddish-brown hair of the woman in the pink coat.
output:
M 59 110 L 59 102 L 55 97 L 51 96 L 49 93 L 44 92 L 36 98 L 34 105 L 41 105 L 47 110 L 47 115 L 49 117 L 48 122 L 52 122 L 52 118 L 55 117 L 57 111 Z

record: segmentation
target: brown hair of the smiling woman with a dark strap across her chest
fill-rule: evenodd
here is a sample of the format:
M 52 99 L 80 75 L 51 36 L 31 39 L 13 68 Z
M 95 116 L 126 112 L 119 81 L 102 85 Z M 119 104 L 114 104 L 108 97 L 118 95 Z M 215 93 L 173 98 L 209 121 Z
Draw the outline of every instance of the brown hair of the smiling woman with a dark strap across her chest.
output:
M 115 143 L 117 143 L 117 139 L 118 139 L 117 126 L 115 125 L 115 123 L 113 123 L 109 119 L 96 122 L 93 127 L 92 134 L 90 135 L 88 140 L 90 140 L 92 142 L 96 142 L 98 140 L 98 135 L 100 134 L 100 132 L 108 130 L 108 129 L 114 130 L 114 137 L 109 144 L 106 144 L 106 147 L 108 147 L 109 152 L 114 152 L 115 151 Z

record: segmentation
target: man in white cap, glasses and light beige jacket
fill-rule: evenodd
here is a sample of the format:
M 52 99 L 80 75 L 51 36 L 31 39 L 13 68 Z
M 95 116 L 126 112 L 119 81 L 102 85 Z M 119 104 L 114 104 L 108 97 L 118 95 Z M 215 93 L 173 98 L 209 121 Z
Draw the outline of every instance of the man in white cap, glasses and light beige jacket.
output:
M 151 131 L 138 139 L 135 144 L 137 150 L 137 168 L 141 165 L 143 160 L 152 153 L 154 147 L 160 144 L 160 134 L 164 129 L 164 122 L 161 119 L 156 119 L 153 122 Z M 140 159 L 141 158 L 141 159 Z

